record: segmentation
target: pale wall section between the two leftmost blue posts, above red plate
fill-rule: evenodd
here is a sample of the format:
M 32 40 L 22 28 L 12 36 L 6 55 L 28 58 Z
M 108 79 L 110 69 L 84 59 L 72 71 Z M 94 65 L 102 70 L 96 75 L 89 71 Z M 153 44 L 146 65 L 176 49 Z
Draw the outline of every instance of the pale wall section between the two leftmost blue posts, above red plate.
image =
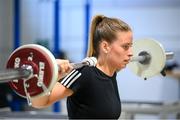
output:
M 21 44 L 48 40 L 53 45 L 53 2 L 21 0 Z

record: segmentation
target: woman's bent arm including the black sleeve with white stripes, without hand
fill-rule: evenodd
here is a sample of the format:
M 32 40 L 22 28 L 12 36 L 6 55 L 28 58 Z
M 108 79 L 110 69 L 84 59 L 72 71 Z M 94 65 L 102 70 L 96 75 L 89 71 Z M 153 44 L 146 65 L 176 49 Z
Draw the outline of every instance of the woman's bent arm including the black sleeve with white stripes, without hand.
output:
M 83 85 L 84 77 L 82 76 L 78 70 L 73 70 L 62 81 L 54 85 L 49 96 L 33 99 L 33 105 L 38 108 L 46 107 L 65 97 L 71 96 Z

